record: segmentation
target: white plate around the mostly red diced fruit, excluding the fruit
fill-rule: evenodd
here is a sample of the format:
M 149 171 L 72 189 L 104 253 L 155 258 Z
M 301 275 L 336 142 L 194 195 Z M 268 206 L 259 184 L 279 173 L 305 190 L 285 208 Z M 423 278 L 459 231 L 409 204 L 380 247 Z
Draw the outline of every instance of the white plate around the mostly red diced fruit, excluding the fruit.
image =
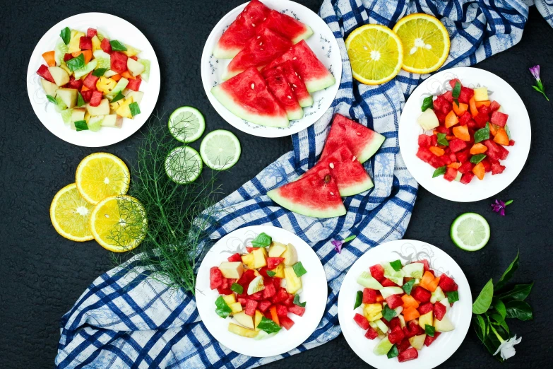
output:
M 417 158 L 419 148 L 417 137 L 423 129 L 417 124 L 421 115 L 422 100 L 429 94 L 437 95 L 451 90 L 448 81 L 459 78 L 463 86 L 471 88 L 485 86 L 490 91 L 490 99 L 497 100 L 503 106 L 504 113 L 509 115 L 507 124 L 511 131 L 511 138 L 516 141 L 509 146 L 509 156 L 501 160 L 506 170 L 500 175 L 486 173 L 484 180 L 475 177 L 468 185 L 460 182 L 448 182 L 443 176 L 432 178 L 434 168 Z M 521 172 L 528 153 L 530 152 L 530 117 L 518 93 L 503 79 L 489 71 L 477 68 L 453 68 L 441 71 L 422 82 L 415 88 L 409 100 L 405 103 L 401 113 L 399 125 L 400 151 L 405 165 L 415 180 L 425 189 L 436 196 L 451 201 L 471 202 L 487 199 L 503 191 L 515 180 Z

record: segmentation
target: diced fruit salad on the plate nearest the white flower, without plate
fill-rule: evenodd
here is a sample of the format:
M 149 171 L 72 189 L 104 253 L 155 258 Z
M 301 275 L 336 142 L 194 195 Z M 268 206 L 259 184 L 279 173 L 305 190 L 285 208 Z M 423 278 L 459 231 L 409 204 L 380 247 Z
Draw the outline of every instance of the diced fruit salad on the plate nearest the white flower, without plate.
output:
M 436 276 L 428 260 L 373 265 L 357 283 L 355 322 L 367 339 L 379 338 L 376 355 L 410 361 L 423 346 L 455 329 L 448 311 L 459 300 L 458 286 L 447 274 Z

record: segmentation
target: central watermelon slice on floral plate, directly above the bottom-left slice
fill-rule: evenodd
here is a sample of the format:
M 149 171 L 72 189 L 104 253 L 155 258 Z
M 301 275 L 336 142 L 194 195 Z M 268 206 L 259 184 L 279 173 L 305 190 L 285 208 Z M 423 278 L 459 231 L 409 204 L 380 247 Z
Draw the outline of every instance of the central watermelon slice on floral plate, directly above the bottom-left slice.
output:
M 251 66 L 261 68 L 275 58 L 280 57 L 292 47 L 292 42 L 287 38 L 265 28 L 257 36 L 251 38 L 248 44 L 227 66 L 227 71 L 222 76 L 223 81 L 236 76 Z

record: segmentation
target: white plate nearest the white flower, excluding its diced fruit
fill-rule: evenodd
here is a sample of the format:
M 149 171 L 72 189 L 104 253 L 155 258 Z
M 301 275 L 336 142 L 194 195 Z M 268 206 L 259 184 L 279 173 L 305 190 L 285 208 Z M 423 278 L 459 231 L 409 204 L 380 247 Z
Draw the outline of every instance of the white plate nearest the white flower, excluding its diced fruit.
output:
M 365 331 L 353 320 L 356 312 L 362 314 L 362 308 L 353 310 L 357 291 L 363 287 L 357 284 L 357 277 L 369 267 L 381 262 L 393 262 L 400 259 L 402 264 L 420 259 L 427 259 L 430 267 L 436 271 L 436 276 L 446 273 L 455 279 L 459 286 L 459 300 L 453 304 L 448 312 L 448 318 L 453 322 L 455 329 L 442 333 L 431 346 L 424 346 L 419 351 L 419 357 L 409 361 L 408 364 L 400 363 L 397 358 L 388 359 L 386 355 L 376 356 L 372 351 L 379 339 L 369 340 L 365 338 Z M 340 295 L 338 295 L 338 319 L 347 344 L 369 365 L 378 369 L 405 368 L 430 369 L 444 363 L 459 348 L 467 335 L 472 316 L 472 295 L 467 278 L 458 264 L 448 254 L 438 247 L 415 240 L 396 240 L 383 243 L 378 247 L 365 252 L 352 265 L 345 275 Z M 453 365 L 455 366 L 455 365 Z

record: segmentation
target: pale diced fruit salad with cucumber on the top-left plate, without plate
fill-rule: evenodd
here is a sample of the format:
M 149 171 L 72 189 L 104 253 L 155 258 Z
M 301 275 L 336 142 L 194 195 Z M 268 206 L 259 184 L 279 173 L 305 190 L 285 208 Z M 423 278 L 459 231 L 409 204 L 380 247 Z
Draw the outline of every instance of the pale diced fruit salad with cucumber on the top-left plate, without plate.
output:
M 44 52 L 37 74 L 47 99 L 76 131 L 121 128 L 122 118 L 140 114 L 142 81 L 150 61 L 140 50 L 109 40 L 95 28 L 86 33 L 64 28 L 53 50 Z

